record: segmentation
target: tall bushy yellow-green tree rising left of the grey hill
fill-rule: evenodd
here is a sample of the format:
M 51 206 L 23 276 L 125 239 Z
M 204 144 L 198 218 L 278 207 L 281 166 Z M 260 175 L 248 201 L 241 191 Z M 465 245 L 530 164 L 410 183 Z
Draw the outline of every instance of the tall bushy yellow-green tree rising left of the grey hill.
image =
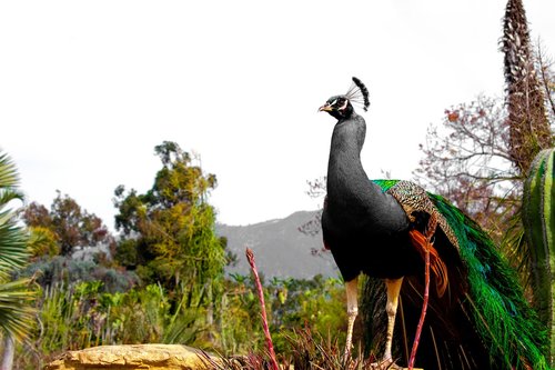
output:
M 216 178 L 204 174 L 175 142 L 164 141 L 154 152 L 162 169 L 152 189 L 144 194 L 115 189 L 115 228 L 122 236 L 117 259 L 145 282 L 204 286 L 222 277 L 225 264 L 225 244 L 215 236 L 214 209 L 206 201 Z

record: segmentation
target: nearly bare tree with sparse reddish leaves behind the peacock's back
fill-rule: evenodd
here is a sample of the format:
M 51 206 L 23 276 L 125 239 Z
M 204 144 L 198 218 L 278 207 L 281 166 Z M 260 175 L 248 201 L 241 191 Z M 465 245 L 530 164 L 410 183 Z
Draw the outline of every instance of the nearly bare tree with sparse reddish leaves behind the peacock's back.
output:
M 445 110 L 440 127 L 431 126 L 414 171 L 418 182 L 475 219 L 492 236 L 511 218 L 522 193 L 508 147 L 503 103 L 483 96 Z M 516 207 L 515 207 L 516 204 Z

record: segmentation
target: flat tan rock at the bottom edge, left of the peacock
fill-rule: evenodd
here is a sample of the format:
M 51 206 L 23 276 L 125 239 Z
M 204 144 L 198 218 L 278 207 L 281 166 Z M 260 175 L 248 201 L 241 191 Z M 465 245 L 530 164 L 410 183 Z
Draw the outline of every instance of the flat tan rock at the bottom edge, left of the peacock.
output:
M 44 370 L 201 370 L 202 351 L 180 344 L 100 346 L 69 351 Z

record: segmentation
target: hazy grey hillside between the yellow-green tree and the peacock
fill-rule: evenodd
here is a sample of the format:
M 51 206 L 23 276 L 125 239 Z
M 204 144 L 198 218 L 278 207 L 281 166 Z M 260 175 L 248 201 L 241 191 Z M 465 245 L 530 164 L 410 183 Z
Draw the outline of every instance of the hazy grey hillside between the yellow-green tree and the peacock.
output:
M 307 236 L 299 227 L 314 218 L 315 211 L 295 212 L 284 219 L 271 220 L 250 226 L 218 224 L 219 236 L 228 238 L 228 248 L 238 256 L 238 264 L 226 271 L 250 273 L 244 256 L 245 248 L 254 251 L 259 272 L 266 278 L 310 279 L 315 274 L 336 277 L 330 252 L 313 256 L 313 250 L 321 250 L 322 233 Z

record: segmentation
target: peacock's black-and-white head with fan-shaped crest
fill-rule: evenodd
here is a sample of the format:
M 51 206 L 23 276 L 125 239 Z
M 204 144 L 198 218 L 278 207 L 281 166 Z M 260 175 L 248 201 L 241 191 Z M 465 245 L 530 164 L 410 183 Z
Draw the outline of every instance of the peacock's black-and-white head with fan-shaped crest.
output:
M 336 119 L 345 119 L 354 112 L 353 103 L 369 110 L 369 90 L 356 77 L 353 77 L 353 84 L 344 96 L 335 96 L 327 99 L 325 104 L 320 107 L 319 111 L 327 112 Z

